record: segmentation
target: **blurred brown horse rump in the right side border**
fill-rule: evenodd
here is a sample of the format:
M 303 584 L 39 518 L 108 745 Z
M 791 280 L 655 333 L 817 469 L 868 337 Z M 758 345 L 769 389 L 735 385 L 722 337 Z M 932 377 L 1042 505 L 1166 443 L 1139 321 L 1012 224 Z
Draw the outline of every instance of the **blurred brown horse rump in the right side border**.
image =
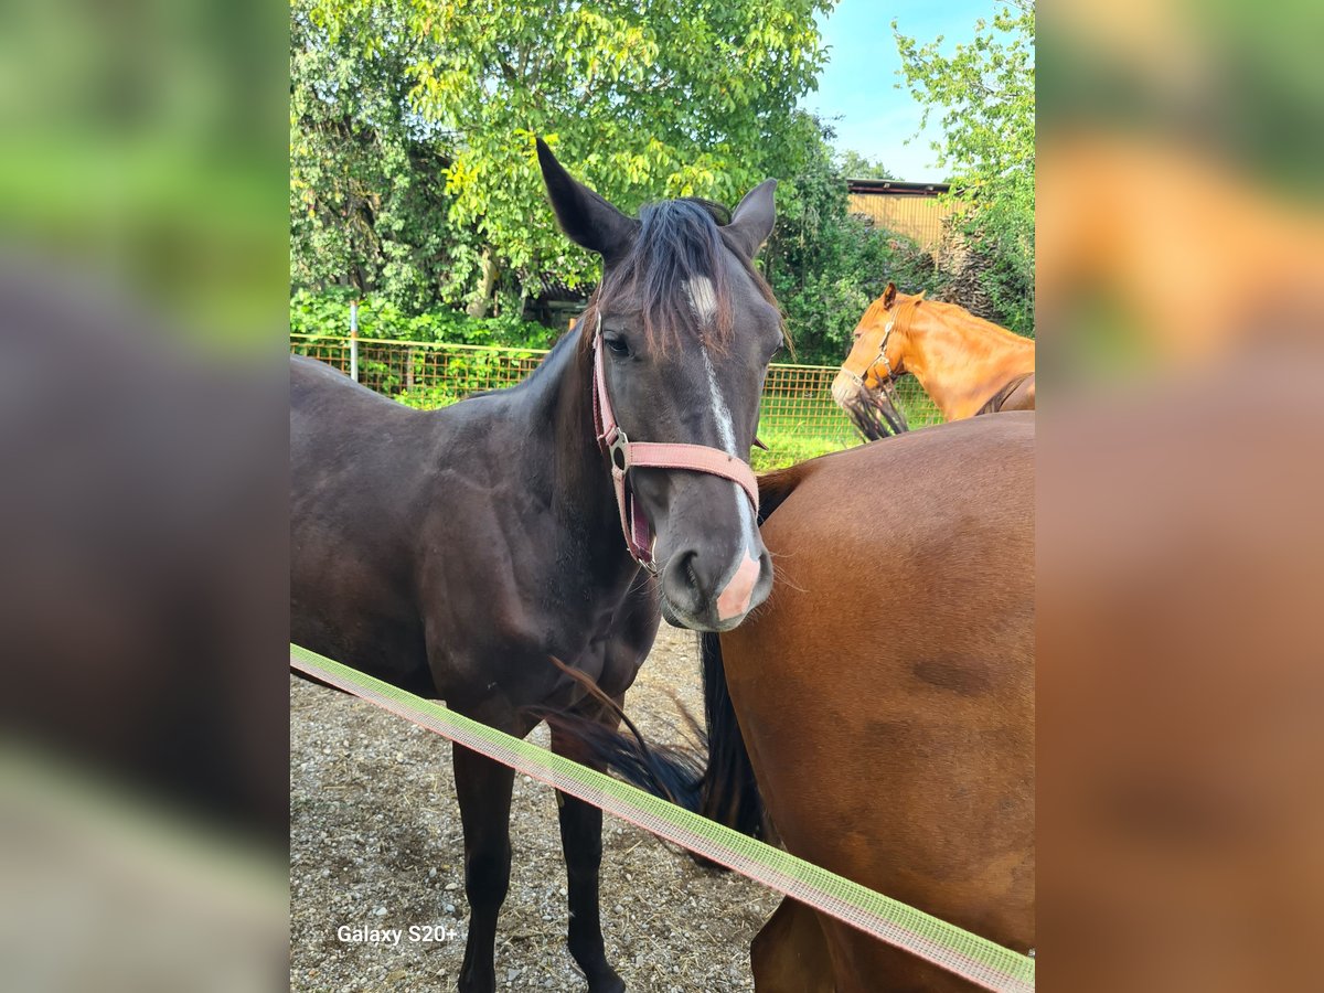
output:
M 1279 389 L 1234 416 L 1243 373 L 1209 369 L 1042 425 L 1046 990 L 1317 989 L 1317 359 L 1267 350 Z

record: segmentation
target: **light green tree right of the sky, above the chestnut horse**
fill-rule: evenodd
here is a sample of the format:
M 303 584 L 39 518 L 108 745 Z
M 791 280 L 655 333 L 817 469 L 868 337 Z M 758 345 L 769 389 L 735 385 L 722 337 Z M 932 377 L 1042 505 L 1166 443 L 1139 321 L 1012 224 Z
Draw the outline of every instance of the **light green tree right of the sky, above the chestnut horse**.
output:
M 941 113 L 939 163 L 964 205 L 961 230 L 1002 323 L 1034 330 L 1034 0 L 1012 0 L 953 54 L 896 30 L 902 77 Z

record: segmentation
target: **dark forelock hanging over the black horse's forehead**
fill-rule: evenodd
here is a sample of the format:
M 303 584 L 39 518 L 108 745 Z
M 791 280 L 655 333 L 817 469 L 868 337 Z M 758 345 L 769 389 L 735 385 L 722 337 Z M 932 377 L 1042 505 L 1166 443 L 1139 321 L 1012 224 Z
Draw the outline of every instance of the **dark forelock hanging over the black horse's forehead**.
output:
M 588 314 L 628 299 L 642 315 L 643 334 L 650 344 L 666 350 L 682 335 L 703 334 L 706 343 L 723 348 L 731 338 L 731 290 L 722 253 L 722 226 L 731 222 L 724 207 L 686 197 L 645 204 L 639 209 L 639 233 L 630 253 L 605 274 L 589 302 Z M 764 299 L 776 306 L 772 289 L 739 253 L 731 253 L 744 267 Z M 700 327 L 699 315 L 686 290 L 696 278 L 712 286 L 715 311 Z

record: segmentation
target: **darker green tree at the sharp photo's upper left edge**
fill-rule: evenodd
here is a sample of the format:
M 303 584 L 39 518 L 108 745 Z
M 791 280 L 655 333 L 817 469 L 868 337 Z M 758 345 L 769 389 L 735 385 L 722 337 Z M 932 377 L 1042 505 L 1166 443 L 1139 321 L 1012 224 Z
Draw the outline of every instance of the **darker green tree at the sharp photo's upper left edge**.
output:
M 290 281 L 420 311 L 445 295 L 454 233 L 450 160 L 409 110 L 406 9 L 363 8 L 335 36 L 305 4 L 291 11 Z M 393 42 L 365 50 L 365 37 Z

